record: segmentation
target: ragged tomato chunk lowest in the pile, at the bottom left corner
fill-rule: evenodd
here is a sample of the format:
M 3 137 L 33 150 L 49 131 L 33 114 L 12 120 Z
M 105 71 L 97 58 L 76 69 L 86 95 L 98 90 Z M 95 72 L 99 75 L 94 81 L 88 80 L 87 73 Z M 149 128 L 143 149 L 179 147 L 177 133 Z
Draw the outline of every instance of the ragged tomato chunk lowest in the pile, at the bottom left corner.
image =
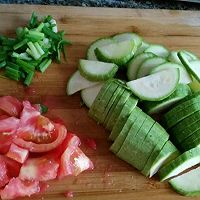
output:
M 40 192 L 39 181 L 22 181 L 12 178 L 8 185 L 1 191 L 1 199 L 15 199 L 17 197 L 31 196 Z

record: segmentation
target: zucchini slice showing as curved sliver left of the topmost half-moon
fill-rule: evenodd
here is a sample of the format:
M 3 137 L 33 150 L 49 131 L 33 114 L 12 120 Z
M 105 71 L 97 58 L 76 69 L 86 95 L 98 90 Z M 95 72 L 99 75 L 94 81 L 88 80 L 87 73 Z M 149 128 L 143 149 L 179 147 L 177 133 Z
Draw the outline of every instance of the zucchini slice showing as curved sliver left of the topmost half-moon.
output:
M 101 38 L 96 41 L 94 41 L 87 50 L 87 59 L 88 60 L 98 60 L 94 50 L 98 47 L 106 46 L 108 44 L 112 44 L 114 41 L 112 38 Z

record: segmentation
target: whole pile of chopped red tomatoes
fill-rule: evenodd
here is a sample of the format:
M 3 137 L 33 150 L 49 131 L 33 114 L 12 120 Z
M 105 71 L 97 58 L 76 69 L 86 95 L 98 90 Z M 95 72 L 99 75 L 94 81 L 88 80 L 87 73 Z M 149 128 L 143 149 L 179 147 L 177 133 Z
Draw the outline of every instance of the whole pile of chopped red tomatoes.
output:
M 41 115 L 44 106 L 0 97 L 1 199 L 43 192 L 46 181 L 93 169 L 80 139 Z

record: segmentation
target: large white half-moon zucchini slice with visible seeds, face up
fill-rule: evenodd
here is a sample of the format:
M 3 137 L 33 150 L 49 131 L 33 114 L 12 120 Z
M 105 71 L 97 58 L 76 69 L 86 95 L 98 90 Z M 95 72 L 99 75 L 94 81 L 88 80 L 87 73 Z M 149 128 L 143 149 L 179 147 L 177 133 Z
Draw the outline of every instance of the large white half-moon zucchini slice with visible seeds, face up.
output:
M 127 82 L 127 86 L 142 100 L 160 101 L 175 91 L 179 74 L 179 69 L 171 68 Z

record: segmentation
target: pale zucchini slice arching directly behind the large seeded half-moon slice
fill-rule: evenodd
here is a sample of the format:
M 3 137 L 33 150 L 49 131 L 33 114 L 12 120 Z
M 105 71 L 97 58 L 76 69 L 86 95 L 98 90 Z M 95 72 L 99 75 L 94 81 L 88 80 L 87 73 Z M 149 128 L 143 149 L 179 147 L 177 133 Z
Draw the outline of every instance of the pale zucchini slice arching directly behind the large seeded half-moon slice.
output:
M 187 72 L 187 70 L 184 68 L 184 66 L 176 64 L 176 63 L 171 63 L 171 62 L 166 62 L 164 64 L 157 66 L 157 67 L 154 67 L 151 70 L 150 74 L 154 74 L 154 73 L 159 72 L 161 70 L 169 69 L 169 68 L 172 68 L 172 67 L 177 68 L 180 71 L 179 83 L 188 84 L 188 83 L 192 82 L 192 78 L 191 78 L 190 74 Z

